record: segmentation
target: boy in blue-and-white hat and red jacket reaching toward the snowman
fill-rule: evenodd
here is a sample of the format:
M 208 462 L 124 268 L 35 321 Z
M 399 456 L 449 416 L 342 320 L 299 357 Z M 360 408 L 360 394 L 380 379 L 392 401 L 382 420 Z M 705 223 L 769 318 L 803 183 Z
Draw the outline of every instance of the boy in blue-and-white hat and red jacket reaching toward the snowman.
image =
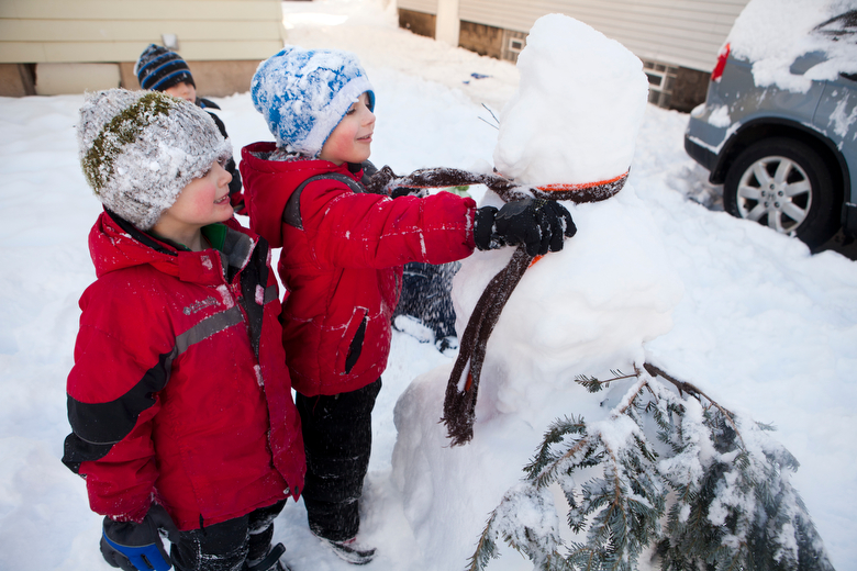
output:
M 375 549 L 356 538 L 358 502 L 402 266 L 502 244 L 544 254 L 561 249 L 574 224 L 555 202 L 498 213 L 448 192 L 367 193 L 358 181 L 369 168 L 375 92 L 352 54 L 287 46 L 259 66 L 251 91 L 276 144 L 242 149 L 241 170 L 251 227 L 282 247 L 280 321 L 307 448 L 309 525 L 363 564 Z

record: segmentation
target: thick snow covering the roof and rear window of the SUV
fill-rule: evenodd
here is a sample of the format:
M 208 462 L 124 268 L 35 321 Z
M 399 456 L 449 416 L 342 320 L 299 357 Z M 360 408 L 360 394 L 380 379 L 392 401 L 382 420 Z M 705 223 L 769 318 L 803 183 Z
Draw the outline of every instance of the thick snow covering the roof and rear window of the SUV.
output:
M 857 0 L 752 0 L 726 42 L 735 57 L 753 63 L 756 86 L 806 92 L 813 80 L 857 72 L 857 29 L 830 22 L 849 10 L 857 10 Z M 792 64 L 812 53 L 823 60 L 798 75 Z

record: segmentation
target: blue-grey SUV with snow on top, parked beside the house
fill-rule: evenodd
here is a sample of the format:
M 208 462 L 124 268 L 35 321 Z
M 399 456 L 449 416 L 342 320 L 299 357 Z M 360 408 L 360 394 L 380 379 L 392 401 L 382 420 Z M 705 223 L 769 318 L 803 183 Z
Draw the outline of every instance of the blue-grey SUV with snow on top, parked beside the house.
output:
M 842 56 L 842 48 L 857 44 L 857 10 L 833 18 L 820 11 L 820 16 L 809 33 L 813 51 L 786 64 L 792 78 L 817 76 L 808 71 L 821 65 L 830 69 L 832 54 Z M 756 61 L 731 52 L 726 44 L 705 103 L 691 112 L 685 133 L 687 153 L 710 171 L 711 182 L 723 184 L 724 209 L 797 236 L 811 248 L 839 228 L 857 234 L 857 76 L 852 65 L 841 65 L 832 78 L 805 81 L 805 91 L 757 87 Z

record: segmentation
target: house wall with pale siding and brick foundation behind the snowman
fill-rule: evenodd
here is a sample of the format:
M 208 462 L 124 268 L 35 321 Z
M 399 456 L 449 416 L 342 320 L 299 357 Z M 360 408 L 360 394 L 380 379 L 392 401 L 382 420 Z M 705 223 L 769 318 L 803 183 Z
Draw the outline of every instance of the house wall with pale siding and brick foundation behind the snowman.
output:
M 433 36 L 444 0 L 399 0 L 400 25 Z M 690 111 L 705 99 L 716 55 L 748 0 L 458 0 L 458 45 L 515 61 L 545 14 L 580 20 L 643 60 L 649 102 Z

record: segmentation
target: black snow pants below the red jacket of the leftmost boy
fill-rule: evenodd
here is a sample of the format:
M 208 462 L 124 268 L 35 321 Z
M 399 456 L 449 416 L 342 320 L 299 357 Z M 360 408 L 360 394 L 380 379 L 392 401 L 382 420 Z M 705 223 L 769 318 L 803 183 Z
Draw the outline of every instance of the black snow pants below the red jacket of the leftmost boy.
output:
M 176 571 L 241 571 L 264 558 L 274 537 L 274 519 L 286 500 L 249 514 L 190 531 L 179 531 L 169 558 Z

